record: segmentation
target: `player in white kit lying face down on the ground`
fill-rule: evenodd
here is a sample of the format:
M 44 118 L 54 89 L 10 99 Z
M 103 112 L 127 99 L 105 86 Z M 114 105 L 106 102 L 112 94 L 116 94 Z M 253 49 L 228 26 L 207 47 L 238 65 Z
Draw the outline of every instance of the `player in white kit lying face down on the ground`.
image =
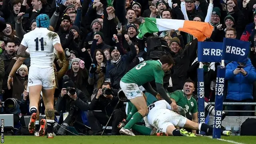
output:
M 148 106 L 148 115 L 144 117 L 146 126 L 153 129 L 156 128 L 160 132 L 164 132 L 170 136 L 196 136 L 194 133 L 188 133 L 184 129 L 178 130 L 175 126 L 180 128 L 189 128 L 191 130 L 200 130 L 203 132 L 213 132 L 213 127 L 208 124 L 198 124 L 188 120 L 186 117 L 178 114 L 181 111 L 174 112 L 171 110 L 170 104 L 165 100 L 159 100 Z M 231 132 L 222 130 L 222 135 L 230 136 Z

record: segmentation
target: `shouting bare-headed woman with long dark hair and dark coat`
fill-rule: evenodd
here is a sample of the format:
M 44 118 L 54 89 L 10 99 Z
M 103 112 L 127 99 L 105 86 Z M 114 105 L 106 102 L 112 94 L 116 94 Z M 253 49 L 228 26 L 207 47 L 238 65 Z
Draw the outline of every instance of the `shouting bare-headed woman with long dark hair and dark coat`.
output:
M 93 94 L 96 94 L 105 80 L 106 57 L 101 49 L 94 51 L 92 65 L 89 70 L 88 83 L 94 85 Z

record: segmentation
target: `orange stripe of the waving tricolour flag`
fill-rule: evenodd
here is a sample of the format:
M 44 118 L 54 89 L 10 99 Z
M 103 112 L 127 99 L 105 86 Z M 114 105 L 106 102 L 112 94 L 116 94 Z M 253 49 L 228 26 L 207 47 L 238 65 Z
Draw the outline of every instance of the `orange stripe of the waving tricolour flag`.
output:
M 213 26 L 207 22 L 185 20 L 183 28 L 179 28 L 178 30 L 189 33 L 195 36 L 199 42 L 203 42 L 206 38 L 211 37 Z

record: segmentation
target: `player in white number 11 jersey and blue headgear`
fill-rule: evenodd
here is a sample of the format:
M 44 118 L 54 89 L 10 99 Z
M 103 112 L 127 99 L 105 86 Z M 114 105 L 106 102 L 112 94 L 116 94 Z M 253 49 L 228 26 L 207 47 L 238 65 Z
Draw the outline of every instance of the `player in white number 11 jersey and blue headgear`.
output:
M 53 138 L 53 99 L 55 91 L 53 67 L 53 60 L 55 58 L 54 49 L 61 61 L 64 60 L 65 55 L 58 34 L 48 30 L 50 26 L 50 18 L 46 14 L 40 14 L 36 18 L 36 24 L 37 28 L 24 35 L 17 52 L 20 57 L 30 57 L 28 89 L 31 118 L 28 129 L 30 133 L 34 133 L 38 101 L 40 100 L 40 92 L 42 91 L 46 122 L 45 120 L 41 120 L 39 135 L 44 136 L 47 123 L 47 138 Z M 29 52 L 26 52 L 27 48 Z

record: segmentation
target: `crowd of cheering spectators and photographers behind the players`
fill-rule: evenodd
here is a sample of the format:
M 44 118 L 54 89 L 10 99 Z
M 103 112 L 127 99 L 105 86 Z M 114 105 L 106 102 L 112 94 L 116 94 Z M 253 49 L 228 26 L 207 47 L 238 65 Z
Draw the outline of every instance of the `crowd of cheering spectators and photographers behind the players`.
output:
M 112 3 L 111 3 L 112 2 Z M 255 102 L 256 97 L 256 0 L 1 0 L 0 1 L 0 100 L 15 98 L 20 104 L 16 115 L 30 115 L 27 91 L 30 59 L 16 54 L 24 34 L 36 28 L 36 16 L 50 17 L 50 30 L 60 36 L 62 48 L 69 49 L 63 62 L 54 60 L 56 111 L 64 113 L 75 105 L 89 111 L 87 118 L 94 133 L 101 132 L 112 118 L 112 134 L 126 118 L 118 102 L 120 79 L 128 70 L 146 60 L 148 39 L 136 38 L 143 18 L 163 18 L 208 22 L 214 26 L 206 41 L 223 42 L 235 38 L 251 42 L 245 63 L 226 64 L 225 102 Z M 26 15 L 26 16 L 25 16 Z M 122 24 L 118 28 L 118 24 Z M 198 25 L 200 27 L 200 25 Z M 186 79 L 197 83 L 197 42 L 194 36 L 177 30 L 151 34 L 166 40 L 175 65 L 166 74 L 168 92 L 182 90 Z M 12 72 L 15 63 L 22 63 Z M 218 63 L 204 63 L 206 102 L 215 100 Z M 237 66 L 242 66 L 237 69 Z M 10 86 L 7 81 L 12 75 Z M 63 79 L 63 76 L 68 76 Z M 68 83 L 64 83 L 68 82 Z M 154 86 L 152 85 L 154 88 Z M 76 95 L 67 97 L 74 88 Z M 103 94 L 103 88 L 112 94 Z M 58 92 L 57 92 L 58 91 Z M 197 86 L 194 91 L 197 94 Z M 0 103 L 1 103 L 0 101 Z M 90 104 L 89 104 L 90 102 Z M 250 105 L 227 106 L 228 110 L 253 110 Z M 39 110 L 44 114 L 44 110 Z M 4 108 L 0 104 L 0 114 Z M 77 120 L 82 121 L 82 114 Z M 230 116 L 253 116 L 252 112 L 229 112 Z

